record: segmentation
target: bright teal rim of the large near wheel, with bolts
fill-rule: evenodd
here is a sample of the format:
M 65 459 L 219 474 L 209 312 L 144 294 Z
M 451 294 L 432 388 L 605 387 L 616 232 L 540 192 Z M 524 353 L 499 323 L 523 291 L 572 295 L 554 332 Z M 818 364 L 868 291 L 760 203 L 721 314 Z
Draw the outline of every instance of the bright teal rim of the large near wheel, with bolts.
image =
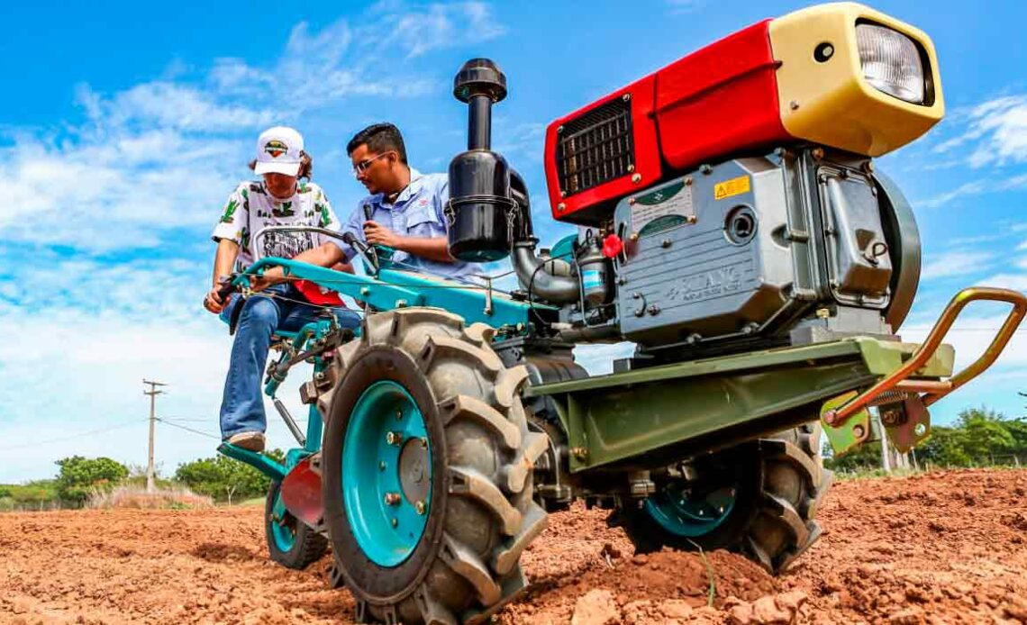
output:
M 424 416 L 402 385 L 382 380 L 353 405 L 342 445 L 342 497 L 353 538 L 380 567 L 414 552 L 431 507 Z

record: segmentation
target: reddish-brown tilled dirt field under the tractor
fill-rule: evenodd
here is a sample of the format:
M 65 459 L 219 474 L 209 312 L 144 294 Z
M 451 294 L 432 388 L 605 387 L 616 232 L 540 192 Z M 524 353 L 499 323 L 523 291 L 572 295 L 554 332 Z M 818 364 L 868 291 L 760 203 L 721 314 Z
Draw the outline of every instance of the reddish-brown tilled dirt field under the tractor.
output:
M 2 623 L 350 623 L 328 559 L 265 557 L 260 508 L 0 515 Z M 602 511 L 553 515 L 499 623 L 1027 623 L 1027 471 L 836 483 L 772 579 L 738 556 L 633 556 Z M 707 607 L 710 575 L 714 608 Z

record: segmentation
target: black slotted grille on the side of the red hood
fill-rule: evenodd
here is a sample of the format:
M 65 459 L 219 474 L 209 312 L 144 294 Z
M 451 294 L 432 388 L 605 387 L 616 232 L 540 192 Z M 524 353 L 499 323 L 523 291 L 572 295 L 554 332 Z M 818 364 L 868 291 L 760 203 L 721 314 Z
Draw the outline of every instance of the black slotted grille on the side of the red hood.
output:
M 564 124 L 557 138 L 560 190 L 572 195 L 632 171 L 631 101 L 617 99 Z

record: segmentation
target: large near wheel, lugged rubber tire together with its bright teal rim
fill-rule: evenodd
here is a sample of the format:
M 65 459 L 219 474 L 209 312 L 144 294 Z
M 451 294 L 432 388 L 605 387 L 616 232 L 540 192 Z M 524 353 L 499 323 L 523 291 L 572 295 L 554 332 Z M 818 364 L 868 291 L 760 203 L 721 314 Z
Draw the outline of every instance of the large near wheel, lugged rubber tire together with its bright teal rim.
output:
M 325 521 L 357 622 L 487 620 L 526 585 L 546 524 L 532 500 L 544 434 L 529 432 L 523 366 L 493 329 L 410 308 L 369 315 L 336 355 L 322 454 Z M 322 404 L 324 405 L 324 404 Z

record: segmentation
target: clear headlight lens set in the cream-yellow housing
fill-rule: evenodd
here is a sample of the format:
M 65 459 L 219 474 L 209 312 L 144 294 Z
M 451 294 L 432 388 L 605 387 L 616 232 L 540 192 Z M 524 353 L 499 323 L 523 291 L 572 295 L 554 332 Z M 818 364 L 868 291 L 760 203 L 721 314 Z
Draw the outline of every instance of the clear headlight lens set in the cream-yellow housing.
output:
M 899 100 L 923 104 L 923 63 L 912 39 L 883 26 L 858 24 L 855 41 L 867 82 Z

